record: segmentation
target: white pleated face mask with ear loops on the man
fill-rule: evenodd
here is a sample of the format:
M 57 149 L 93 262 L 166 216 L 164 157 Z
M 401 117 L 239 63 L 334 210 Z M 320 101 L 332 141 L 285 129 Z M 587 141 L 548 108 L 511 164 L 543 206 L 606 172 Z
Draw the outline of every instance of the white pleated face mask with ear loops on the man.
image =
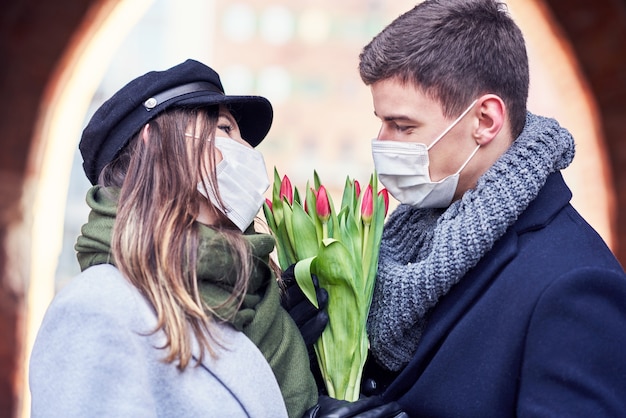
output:
M 480 144 L 461 168 L 440 181 L 430 179 L 428 150 L 443 138 L 476 104 L 476 100 L 429 146 L 417 142 L 372 140 L 374 167 L 380 182 L 399 202 L 418 208 L 450 206 L 459 182 L 459 174 L 480 148 Z

